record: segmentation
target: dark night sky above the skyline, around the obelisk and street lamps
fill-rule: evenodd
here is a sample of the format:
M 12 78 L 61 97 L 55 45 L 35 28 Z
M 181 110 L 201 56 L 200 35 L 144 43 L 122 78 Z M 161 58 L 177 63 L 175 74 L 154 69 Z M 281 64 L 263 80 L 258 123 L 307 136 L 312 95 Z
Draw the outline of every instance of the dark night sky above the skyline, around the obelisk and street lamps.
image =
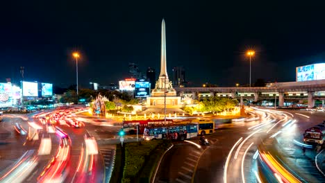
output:
M 321 2 L 321 1 L 319 1 Z M 0 4 L 0 82 L 25 80 L 108 85 L 128 62 L 160 71 L 160 25 L 167 32 L 167 69 L 221 86 L 294 81 L 295 67 L 325 60 L 325 3 L 310 1 L 14 1 Z

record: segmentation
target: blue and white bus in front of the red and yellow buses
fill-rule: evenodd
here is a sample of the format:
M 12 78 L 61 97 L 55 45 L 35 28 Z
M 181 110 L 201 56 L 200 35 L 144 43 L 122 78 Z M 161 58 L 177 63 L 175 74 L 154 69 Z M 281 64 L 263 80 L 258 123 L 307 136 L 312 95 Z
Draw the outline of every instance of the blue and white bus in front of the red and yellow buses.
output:
M 185 140 L 192 137 L 197 137 L 198 124 L 178 124 L 178 125 L 167 125 L 155 128 L 145 128 L 143 138 L 146 140 L 151 139 L 175 139 Z

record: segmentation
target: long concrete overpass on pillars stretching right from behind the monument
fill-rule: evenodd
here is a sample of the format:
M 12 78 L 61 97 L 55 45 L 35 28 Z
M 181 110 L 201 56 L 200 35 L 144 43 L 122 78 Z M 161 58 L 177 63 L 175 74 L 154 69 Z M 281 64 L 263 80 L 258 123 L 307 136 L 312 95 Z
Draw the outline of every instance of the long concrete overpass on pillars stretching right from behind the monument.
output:
M 267 87 L 176 87 L 176 92 L 192 99 L 204 96 L 274 98 L 278 96 L 278 106 L 283 106 L 285 98 L 308 98 L 308 107 L 315 106 L 315 100 L 325 100 L 325 80 L 300 82 L 274 82 Z

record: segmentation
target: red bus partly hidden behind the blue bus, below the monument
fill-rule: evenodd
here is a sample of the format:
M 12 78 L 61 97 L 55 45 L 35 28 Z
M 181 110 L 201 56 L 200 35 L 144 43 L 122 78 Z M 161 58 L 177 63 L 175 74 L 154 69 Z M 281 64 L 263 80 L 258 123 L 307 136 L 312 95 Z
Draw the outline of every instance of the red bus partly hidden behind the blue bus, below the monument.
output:
M 128 134 L 137 133 L 137 125 L 139 125 L 139 134 L 143 134 L 144 128 L 146 127 L 158 127 L 163 125 L 172 124 L 172 119 L 145 119 L 145 120 L 132 120 L 132 121 L 123 121 L 123 130 Z

